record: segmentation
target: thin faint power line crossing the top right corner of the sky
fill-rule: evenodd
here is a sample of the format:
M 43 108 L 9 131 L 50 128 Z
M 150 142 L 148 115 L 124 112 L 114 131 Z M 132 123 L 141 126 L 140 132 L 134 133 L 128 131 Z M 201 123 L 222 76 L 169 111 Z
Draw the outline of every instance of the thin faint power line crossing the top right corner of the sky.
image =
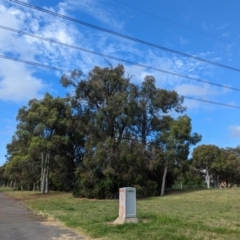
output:
M 180 27 L 186 28 L 186 29 L 188 29 L 188 30 L 191 30 L 191 31 L 200 33 L 200 34 L 202 34 L 202 35 L 208 36 L 208 37 L 210 37 L 210 38 L 214 38 L 214 39 L 216 39 L 216 40 L 219 40 L 219 41 L 222 41 L 222 42 L 225 42 L 225 43 L 229 43 L 229 44 L 238 46 L 237 44 L 235 44 L 235 43 L 233 43 L 233 42 L 229 42 L 229 41 L 224 40 L 224 39 L 222 39 L 222 38 L 215 37 L 215 36 L 210 35 L 210 34 L 208 34 L 208 33 L 204 33 L 204 32 L 202 32 L 202 31 L 199 31 L 199 30 L 196 30 L 196 29 L 194 29 L 194 28 L 185 26 L 185 25 L 183 25 L 183 24 L 180 24 L 180 23 L 177 23 L 177 22 L 168 20 L 168 19 L 166 19 L 166 18 L 163 18 L 163 17 L 160 17 L 160 16 L 155 15 L 155 14 L 153 14 L 153 13 L 150 13 L 150 12 L 147 12 L 147 11 L 144 11 L 144 10 L 141 10 L 141 9 L 139 9 L 139 8 L 133 7 L 133 6 L 128 5 L 128 4 L 126 4 L 126 3 L 122 3 L 122 2 L 119 2 L 119 1 L 117 1 L 117 0 L 113 0 L 113 1 L 116 2 L 116 3 L 118 3 L 118 4 L 124 5 L 124 6 L 126 6 L 126 7 L 132 8 L 132 9 L 134 9 L 134 10 L 136 10 L 136 11 L 139 11 L 139 12 L 148 14 L 148 15 L 150 15 L 150 16 L 153 16 L 153 17 L 155 17 L 155 18 L 161 19 L 161 20 L 163 20 L 163 21 L 169 22 L 169 23 L 171 23 L 171 24 L 175 24 L 175 25 L 178 25 L 178 26 L 180 26 Z

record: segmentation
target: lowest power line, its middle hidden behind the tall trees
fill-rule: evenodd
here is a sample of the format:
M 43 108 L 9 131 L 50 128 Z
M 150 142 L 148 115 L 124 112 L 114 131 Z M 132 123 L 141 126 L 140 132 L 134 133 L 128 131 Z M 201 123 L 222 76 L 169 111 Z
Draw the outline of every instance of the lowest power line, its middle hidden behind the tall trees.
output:
M 26 61 L 26 60 L 22 60 L 22 59 L 19 59 L 19 58 L 13 58 L 13 57 L 4 56 L 4 55 L 0 55 L 0 58 L 4 58 L 4 59 L 7 59 L 7 60 L 16 61 L 16 62 L 21 62 L 21 63 L 25 63 L 25 64 L 30 64 L 30 65 L 34 65 L 34 66 L 38 66 L 38 67 L 44 67 L 44 68 L 48 68 L 48 69 L 51 69 L 51 70 L 59 70 L 59 71 L 70 72 L 69 70 L 64 70 L 64 69 L 61 69 L 61 68 L 51 67 L 51 66 L 48 66 L 48 65 L 43 65 L 43 64 L 36 63 L 36 62 Z M 211 103 L 211 104 L 220 105 L 220 106 L 224 106 L 224 107 L 231 107 L 231 108 L 240 109 L 240 106 L 234 106 L 234 105 L 229 105 L 229 104 L 224 104 L 224 103 L 219 103 L 219 102 L 213 102 L 213 101 L 194 98 L 194 97 L 187 97 L 187 96 L 183 96 L 183 97 L 186 98 L 186 99 L 191 99 L 191 100 L 195 100 L 195 101 L 200 101 L 200 102 Z

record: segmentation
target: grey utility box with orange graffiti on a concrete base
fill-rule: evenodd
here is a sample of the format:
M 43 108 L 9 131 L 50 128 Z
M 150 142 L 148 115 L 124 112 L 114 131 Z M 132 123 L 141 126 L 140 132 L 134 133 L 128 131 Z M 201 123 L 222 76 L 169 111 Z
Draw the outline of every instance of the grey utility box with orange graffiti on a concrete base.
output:
M 113 222 L 123 224 L 127 222 L 137 223 L 136 188 L 119 188 L 119 216 Z

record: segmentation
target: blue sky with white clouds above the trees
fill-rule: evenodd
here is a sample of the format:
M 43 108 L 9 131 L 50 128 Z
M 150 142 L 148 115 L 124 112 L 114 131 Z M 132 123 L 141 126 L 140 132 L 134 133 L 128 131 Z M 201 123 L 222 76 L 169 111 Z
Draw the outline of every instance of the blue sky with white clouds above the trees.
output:
M 240 68 L 239 0 L 23 0 L 147 42 Z M 130 3 L 129 3 L 130 2 Z M 138 9 L 138 10 L 137 10 Z M 206 64 L 0 0 L 0 25 L 155 68 L 240 89 L 240 72 Z M 106 58 L 0 29 L 0 55 L 88 73 Z M 118 61 L 108 59 L 113 65 Z M 153 75 L 157 86 L 180 95 L 240 106 L 239 92 L 124 64 L 140 83 Z M 60 72 L 0 58 L 0 165 L 16 129 L 18 109 L 45 92 L 64 96 Z M 240 109 L 186 99 L 186 113 L 200 144 L 236 147 Z

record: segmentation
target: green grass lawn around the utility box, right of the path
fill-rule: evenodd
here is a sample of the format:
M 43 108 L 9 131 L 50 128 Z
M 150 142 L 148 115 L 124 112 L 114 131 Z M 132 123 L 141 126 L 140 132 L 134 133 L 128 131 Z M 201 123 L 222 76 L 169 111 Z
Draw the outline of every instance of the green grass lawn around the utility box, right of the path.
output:
M 0 189 L 1 191 L 1 189 Z M 69 193 L 41 195 L 5 192 L 36 212 L 101 239 L 240 239 L 240 189 L 178 192 L 137 201 L 138 224 L 112 225 L 117 200 L 73 198 Z

